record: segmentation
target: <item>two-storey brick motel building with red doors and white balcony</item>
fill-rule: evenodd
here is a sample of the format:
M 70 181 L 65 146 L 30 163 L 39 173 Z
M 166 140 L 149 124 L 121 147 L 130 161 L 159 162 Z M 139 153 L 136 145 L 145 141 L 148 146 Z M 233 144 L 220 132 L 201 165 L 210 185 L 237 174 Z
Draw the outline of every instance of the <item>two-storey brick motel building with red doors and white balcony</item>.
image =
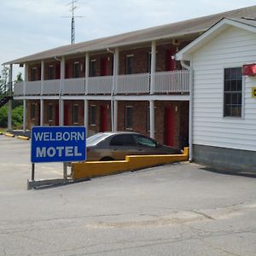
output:
M 23 129 L 85 125 L 99 131 L 137 131 L 160 143 L 189 145 L 190 63 L 178 51 L 224 17 L 255 16 L 256 6 L 69 44 L 8 61 L 24 67 L 13 100 L 24 105 Z M 190 124 L 191 125 L 191 124 Z

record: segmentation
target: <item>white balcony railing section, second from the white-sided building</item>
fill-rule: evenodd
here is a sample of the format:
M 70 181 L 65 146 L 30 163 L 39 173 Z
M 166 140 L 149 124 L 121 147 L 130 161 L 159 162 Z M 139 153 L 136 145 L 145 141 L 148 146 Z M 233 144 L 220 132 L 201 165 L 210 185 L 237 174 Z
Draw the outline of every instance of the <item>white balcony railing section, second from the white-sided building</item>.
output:
M 119 75 L 117 78 L 116 93 L 148 93 L 149 73 Z

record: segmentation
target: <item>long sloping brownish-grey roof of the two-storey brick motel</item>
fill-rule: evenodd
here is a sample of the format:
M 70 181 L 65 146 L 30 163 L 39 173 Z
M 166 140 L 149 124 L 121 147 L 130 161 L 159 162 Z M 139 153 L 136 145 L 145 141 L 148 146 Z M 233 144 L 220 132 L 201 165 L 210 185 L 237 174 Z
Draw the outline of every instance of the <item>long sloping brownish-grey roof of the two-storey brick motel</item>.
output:
M 27 61 L 40 61 L 53 58 L 55 56 L 73 55 L 80 52 L 90 52 L 125 45 L 139 44 L 143 42 L 146 43 L 163 38 L 178 38 L 183 37 L 184 35 L 195 34 L 199 35 L 201 32 L 207 31 L 209 27 L 225 16 L 229 16 L 231 18 L 241 18 L 244 16 L 255 17 L 256 5 L 223 12 L 216 15 L 208 15 L 192 20 L 184 20 L 164 26 L 154 26 L 135 32 L 126 32 L 108 38 L 98 38 L 79 44 L 69 44 L 57 47 L 55 49 L 48 49 L 34 55 L 28 55 L 14 61 L 8 61 L 4 64 L 19 64 Z

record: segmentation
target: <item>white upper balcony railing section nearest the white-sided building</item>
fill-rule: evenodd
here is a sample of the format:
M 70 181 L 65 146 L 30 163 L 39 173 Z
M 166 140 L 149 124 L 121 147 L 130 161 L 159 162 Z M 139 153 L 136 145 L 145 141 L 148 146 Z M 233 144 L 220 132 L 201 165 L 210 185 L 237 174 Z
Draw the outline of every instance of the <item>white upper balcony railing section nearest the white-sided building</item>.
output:
M 176 70 L 154 73 L 156 93 L 187 93 L 189 92 L 189 71 Z

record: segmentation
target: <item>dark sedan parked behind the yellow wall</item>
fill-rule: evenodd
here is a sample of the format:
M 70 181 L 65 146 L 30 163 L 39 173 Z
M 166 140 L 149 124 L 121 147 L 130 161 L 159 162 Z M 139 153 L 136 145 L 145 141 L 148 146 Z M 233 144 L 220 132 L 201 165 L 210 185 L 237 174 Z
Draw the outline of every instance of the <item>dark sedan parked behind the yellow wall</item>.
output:
M 86 139 L 87 160 L 125 160 L 131 154 L 182 154 L 137 132 L 99 132 Z

